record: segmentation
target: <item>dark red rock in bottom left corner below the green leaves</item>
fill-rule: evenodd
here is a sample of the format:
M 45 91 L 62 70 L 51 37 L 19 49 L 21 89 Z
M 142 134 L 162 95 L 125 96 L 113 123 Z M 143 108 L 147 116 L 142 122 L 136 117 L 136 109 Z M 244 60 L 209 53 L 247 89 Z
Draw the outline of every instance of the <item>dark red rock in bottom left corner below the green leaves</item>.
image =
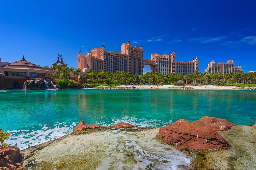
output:
M 23 153 L 16 146 L 0 149 L 0 170 L 22 170 Z

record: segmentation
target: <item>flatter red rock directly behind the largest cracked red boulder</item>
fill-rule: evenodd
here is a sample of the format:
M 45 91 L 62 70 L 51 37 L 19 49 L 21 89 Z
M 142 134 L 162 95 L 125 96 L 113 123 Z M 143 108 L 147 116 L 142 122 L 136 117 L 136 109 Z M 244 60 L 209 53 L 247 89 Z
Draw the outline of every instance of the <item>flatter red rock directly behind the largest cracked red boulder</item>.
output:
M 226 119 L 219 119 L 216 117 L 208 116 L 204 116 L 192 123 L 198 126 L 209 127 L 212 130 L 228 130 L 232 126 L 236 126 L 235 124 L 228 122 Z

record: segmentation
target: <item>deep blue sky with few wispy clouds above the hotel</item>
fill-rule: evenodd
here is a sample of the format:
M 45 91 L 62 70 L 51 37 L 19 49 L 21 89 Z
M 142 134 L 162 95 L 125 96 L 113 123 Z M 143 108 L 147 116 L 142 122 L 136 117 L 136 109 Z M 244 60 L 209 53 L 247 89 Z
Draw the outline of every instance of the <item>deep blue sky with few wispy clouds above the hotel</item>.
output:
M 89 48 L 120 51 L 129 39 L 176 61 L 233 59 L 256 71 L 256 1 L 0 1 L 0 58 L 52 66 L 57 53 L 77 68 Z M 150 71 L 144 67 L 144 73 Z

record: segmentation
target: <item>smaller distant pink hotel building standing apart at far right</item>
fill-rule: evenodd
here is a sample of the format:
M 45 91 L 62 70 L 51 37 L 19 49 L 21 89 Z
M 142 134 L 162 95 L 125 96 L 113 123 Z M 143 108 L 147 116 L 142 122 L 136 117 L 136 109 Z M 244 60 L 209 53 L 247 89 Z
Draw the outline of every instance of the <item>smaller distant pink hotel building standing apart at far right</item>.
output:
M 205 72 L 207 73 L 216 73 L 216 72 L 219 72 L 219 73 L 231 73 L 231 72 L 234 72 L 234 73 L 237 73 L 239 70 L 242 70 L 242 67 L 239 65 L 238 67 L 234 66 L 234 62 L 233 60 L 228 60 L 227 63 L 224 63 L 224 62 L 219 62 L 219 63 L 215 63 L 214 60 L 212 60 L 209 64 L 208 64 L 208 67 L 207 69 L 205 69 Z

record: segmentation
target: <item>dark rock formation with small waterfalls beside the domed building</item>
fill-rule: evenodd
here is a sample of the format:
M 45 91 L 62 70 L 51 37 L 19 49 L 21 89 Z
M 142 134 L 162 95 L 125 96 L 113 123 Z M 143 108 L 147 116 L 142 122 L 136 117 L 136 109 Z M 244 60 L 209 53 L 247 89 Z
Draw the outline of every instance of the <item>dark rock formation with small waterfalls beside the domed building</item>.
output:
M 24 90 L 44 90 L 49 88 L 55 88 L 50 79 L 26 80 L 23 85 Z

